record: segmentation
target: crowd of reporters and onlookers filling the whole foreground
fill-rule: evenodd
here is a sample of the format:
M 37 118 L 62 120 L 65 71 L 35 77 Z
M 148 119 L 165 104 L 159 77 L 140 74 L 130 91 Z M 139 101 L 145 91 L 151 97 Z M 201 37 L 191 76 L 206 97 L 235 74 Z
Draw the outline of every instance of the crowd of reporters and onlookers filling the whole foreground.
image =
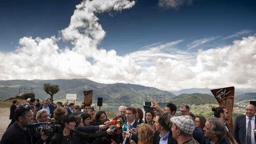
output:
M 11 122 L 1 144 L 256 143 L 254 105 L 248 104 L 246 115 L 236 117 L 231 131 L 226 122 L 230 115 L 224 107 L 212 108 L 214 116 L 206 119 L 195 116 L 186 104 L 179 106 L 180 116 L 175 116 L 175 104 L 168 103 L 162 109 L 157 102 L 151 102 L 152 111 L 143 114 L 140 108 L 120 106 L 118 115 L 109 120 L 105 111 L 95 111 L 94 105 L 86 103 L 57 102 L 54 106 L 50 98 L 44 99 L 42 104 L 35 98 L 22 102 L 13 100 Z M 29 123 L 33 126 L 28 126 Z M 54 128 L 49 123 L 54 123 Z

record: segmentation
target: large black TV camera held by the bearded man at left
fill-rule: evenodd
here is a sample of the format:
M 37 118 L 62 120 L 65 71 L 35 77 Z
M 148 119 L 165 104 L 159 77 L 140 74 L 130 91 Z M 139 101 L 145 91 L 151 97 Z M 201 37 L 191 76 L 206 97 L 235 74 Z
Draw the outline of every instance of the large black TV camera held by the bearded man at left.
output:
M 61 125 L 56 124 L 56 121 L 32 123 L 27 124 L 26 127 L 36 127 L 36 132 L 40 133 L 42 131 L 47 136 L 62 132 Z

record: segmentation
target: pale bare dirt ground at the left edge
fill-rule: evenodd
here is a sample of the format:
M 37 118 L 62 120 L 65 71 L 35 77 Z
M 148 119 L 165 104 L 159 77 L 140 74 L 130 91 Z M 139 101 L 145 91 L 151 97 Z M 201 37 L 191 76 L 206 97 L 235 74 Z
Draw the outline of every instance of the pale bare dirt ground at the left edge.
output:
M 6 131 L 11 120 L 9 120 L 10 108 L 0 107 L 0 139 L 3 136 L 3 133 Z

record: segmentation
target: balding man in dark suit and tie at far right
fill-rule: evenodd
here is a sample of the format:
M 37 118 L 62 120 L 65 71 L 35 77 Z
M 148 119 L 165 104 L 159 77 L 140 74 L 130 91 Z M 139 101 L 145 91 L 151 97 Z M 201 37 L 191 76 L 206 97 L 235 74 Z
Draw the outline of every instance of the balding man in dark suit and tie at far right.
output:
M 255 144 L 256 137 L 254 136 L 255 129 L 255 113 L 256 107 L 248 104 L 245 107 L 246 115 L 239 115 L 234 122 L 234 138 L 240 144 Z

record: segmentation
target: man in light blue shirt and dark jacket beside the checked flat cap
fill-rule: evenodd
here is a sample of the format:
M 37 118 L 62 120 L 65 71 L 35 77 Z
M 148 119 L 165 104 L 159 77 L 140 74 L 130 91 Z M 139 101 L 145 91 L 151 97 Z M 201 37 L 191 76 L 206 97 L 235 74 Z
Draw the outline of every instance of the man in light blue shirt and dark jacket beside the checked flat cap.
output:
M 156 132 L 154 137 L 154 144 L 177 144 L 177 141 L 173 139 L 173 133 L 170 128 L 164 123 L 163 118 L 159 115 L 155 119 Z

